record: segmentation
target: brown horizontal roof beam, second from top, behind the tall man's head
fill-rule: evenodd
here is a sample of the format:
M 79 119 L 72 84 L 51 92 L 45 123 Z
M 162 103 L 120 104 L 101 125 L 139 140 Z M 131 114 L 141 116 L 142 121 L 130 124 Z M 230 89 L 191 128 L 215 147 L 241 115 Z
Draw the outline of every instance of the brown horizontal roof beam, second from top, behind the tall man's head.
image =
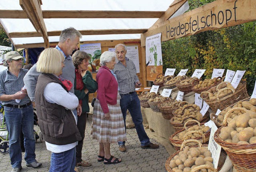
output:
M 111 30 L 80 30 L 82 35 L 108 35 L 108 34 L 136 34 L 145 33 L 148 29 L 111 29 Z M 49 31 L 48 36 L 59 36 L 61 31 Z M 42 33 L 38 32 L 11 32 L 12 38 L 19 37 L 41 37 Z

